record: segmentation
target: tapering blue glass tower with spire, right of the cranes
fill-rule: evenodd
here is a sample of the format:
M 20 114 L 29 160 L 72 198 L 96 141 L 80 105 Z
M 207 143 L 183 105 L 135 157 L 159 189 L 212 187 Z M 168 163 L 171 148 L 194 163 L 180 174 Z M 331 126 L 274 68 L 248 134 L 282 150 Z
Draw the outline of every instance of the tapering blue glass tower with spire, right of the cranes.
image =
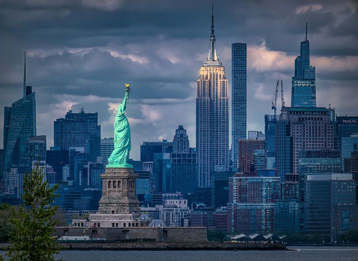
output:
M 295 59 L 292 76 L 291 107 L 316 107 L 316 68 L 309 63 L 309 41 L 301 42 L 301 53 Z

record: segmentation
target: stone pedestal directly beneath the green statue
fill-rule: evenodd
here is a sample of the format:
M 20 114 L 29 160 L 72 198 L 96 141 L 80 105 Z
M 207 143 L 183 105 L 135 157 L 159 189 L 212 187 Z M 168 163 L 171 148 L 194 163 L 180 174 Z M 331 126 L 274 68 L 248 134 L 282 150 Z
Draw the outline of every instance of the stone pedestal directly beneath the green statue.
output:
M 103 185 L 98 214 L 132 214 L 133 218 L 139 217 L 137 176 L 133 168 L 106 168 L 100 176 Z

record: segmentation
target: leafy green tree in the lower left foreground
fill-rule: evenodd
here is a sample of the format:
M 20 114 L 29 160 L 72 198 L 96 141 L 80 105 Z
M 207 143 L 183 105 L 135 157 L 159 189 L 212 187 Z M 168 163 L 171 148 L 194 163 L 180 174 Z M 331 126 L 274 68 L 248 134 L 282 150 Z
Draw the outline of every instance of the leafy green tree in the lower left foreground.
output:
M 52 220 L 56 207 L 54 201 L 58 185 L 49 187 L 45 179 L 44 167 L 39 162 L 31 173 L 24 177 L 24 206 L 14 210 L 12 223 L 15 228 L 10 234 L 9 260 L 48 261 L 55 260 L 59 245 L 51 234 L 57 220 Z

